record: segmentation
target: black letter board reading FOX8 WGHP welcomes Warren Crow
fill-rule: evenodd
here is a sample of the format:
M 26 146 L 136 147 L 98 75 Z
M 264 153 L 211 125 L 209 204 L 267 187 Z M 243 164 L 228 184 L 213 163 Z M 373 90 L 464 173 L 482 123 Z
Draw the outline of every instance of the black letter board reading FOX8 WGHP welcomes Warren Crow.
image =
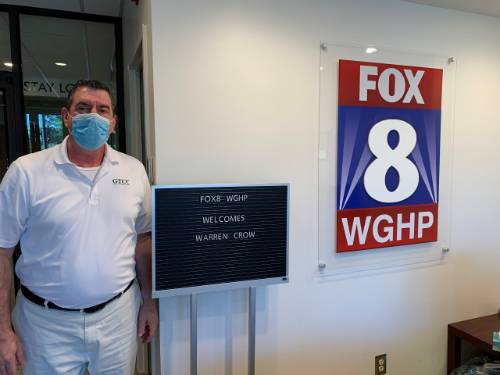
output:
M 154 186 L 153 296 L 288 280 L 288 185 Z

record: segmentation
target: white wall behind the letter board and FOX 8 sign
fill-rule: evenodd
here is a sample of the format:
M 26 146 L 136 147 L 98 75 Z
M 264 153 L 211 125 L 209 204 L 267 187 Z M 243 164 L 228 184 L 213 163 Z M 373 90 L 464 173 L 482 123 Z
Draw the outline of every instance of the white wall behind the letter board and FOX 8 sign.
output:
M 152 26 L 158 183 L 291 183 L 291 281 L 258 290 L 257 374 L 372 374 L 380 353 L 388 374 L 444 374 L 447 323 L 500 302 L 500 20 L 396 0 L 157 0 Z M 316 277 L 320 41 L 457 58 L 444 265 Z M 246 373 L 245 298 L 200 296 L 200 375 Z M 189 373 L 187 302 L 161 302 L 162 374 Z

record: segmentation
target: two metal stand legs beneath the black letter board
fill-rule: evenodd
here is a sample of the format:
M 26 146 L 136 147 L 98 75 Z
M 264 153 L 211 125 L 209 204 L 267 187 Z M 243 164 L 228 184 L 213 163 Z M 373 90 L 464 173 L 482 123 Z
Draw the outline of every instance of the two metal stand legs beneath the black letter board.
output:
M 257 289 L 255 287 L 248 288 L 248 375 L 255 375 L 256 295 Z M 196 297 L 194 293 L 190 296 L 191 375 L 198 373 L 198 302 Z

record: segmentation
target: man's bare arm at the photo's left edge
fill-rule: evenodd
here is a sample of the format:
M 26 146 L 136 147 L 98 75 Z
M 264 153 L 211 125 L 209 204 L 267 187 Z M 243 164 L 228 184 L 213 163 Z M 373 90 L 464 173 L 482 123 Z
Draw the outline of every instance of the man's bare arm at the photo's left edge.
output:
M 16 375 L 16 361 L 24 363 L 21 343 L 10 321 L 12 289 L 12 254 L 14 248 L 0 247 L 0 374 Z

